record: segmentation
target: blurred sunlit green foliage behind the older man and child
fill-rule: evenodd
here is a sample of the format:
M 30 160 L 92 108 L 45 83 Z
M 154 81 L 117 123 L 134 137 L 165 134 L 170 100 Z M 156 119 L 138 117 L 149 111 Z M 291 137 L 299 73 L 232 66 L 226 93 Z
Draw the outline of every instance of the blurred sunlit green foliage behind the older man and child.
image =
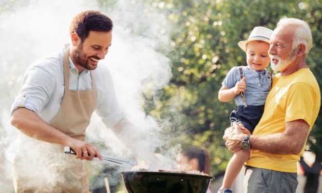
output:
M 147 0 L 167 13 L 173 27 L 173 78 L 158 94 L 158 105 L 147 111 L 158 118 L 170 118 L 182 132 L 184 146 L 206 147 L 212 157 L 213 175 L 225 170 L 232 156 L 222 140 L 235 104 L 218 101 L 218 91 L 233 66 L 246 65 L 238 42 L 248 38 L 255 26 L 274 29 L 283 16 L 305 20 L 312 29 L 314 47 L 308 65 L 322 83 L 322 27 L 320 1 L 174 1 Z M 179 116 L 179 118 L 178 118 Z M 176 118 L 174 118 L 176 117 Z M 321 153 L 320 114 L 311 132 L 309 146 Z

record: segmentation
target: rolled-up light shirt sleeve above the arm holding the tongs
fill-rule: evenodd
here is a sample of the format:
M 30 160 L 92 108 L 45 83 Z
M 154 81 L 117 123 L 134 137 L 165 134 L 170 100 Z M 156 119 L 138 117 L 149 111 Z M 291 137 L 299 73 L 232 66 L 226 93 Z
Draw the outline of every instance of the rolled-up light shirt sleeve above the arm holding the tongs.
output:
M 25 107 L 38 114 L 49 101 L 54 88 L 54 80 L 50 74 L 50 68 L 32 64 L 23 78 L 20 93 L 15 97 L 11 106 L 11 114 L 19 107 Z

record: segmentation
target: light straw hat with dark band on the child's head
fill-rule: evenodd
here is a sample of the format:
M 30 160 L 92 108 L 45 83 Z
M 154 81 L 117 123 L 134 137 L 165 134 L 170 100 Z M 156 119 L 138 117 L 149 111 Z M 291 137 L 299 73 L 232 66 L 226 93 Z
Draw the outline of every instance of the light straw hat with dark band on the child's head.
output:
M 273 33 L 273 30 L 266 27 L 255 27 L 246 41 L 240 41 L 238 46 L 246 51 L 246 45 L 251 41 L 264 41 L 270 43 L 270 38 Z

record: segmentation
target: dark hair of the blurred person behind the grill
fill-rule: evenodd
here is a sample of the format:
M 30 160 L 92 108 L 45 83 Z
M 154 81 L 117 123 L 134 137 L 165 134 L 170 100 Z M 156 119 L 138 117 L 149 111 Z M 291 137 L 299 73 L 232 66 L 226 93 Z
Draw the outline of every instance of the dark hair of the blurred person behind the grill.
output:
M 199 171 L 210 175 L 210 160 L 209 153 L 204 148 L 187 147 L 181 151 L 182 155 L 186 156 L 188 160 L 196 158 L 199 163 Z

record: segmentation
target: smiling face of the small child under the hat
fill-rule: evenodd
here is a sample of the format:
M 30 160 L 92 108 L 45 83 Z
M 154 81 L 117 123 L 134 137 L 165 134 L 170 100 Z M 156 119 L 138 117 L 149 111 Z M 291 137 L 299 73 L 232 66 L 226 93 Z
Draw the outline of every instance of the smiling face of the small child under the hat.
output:
M 253 70 L 263 70 L 270 64 L 268 50 L 270 45 L 263 41 L 252 41 L 247 44 L 247 64 Z

